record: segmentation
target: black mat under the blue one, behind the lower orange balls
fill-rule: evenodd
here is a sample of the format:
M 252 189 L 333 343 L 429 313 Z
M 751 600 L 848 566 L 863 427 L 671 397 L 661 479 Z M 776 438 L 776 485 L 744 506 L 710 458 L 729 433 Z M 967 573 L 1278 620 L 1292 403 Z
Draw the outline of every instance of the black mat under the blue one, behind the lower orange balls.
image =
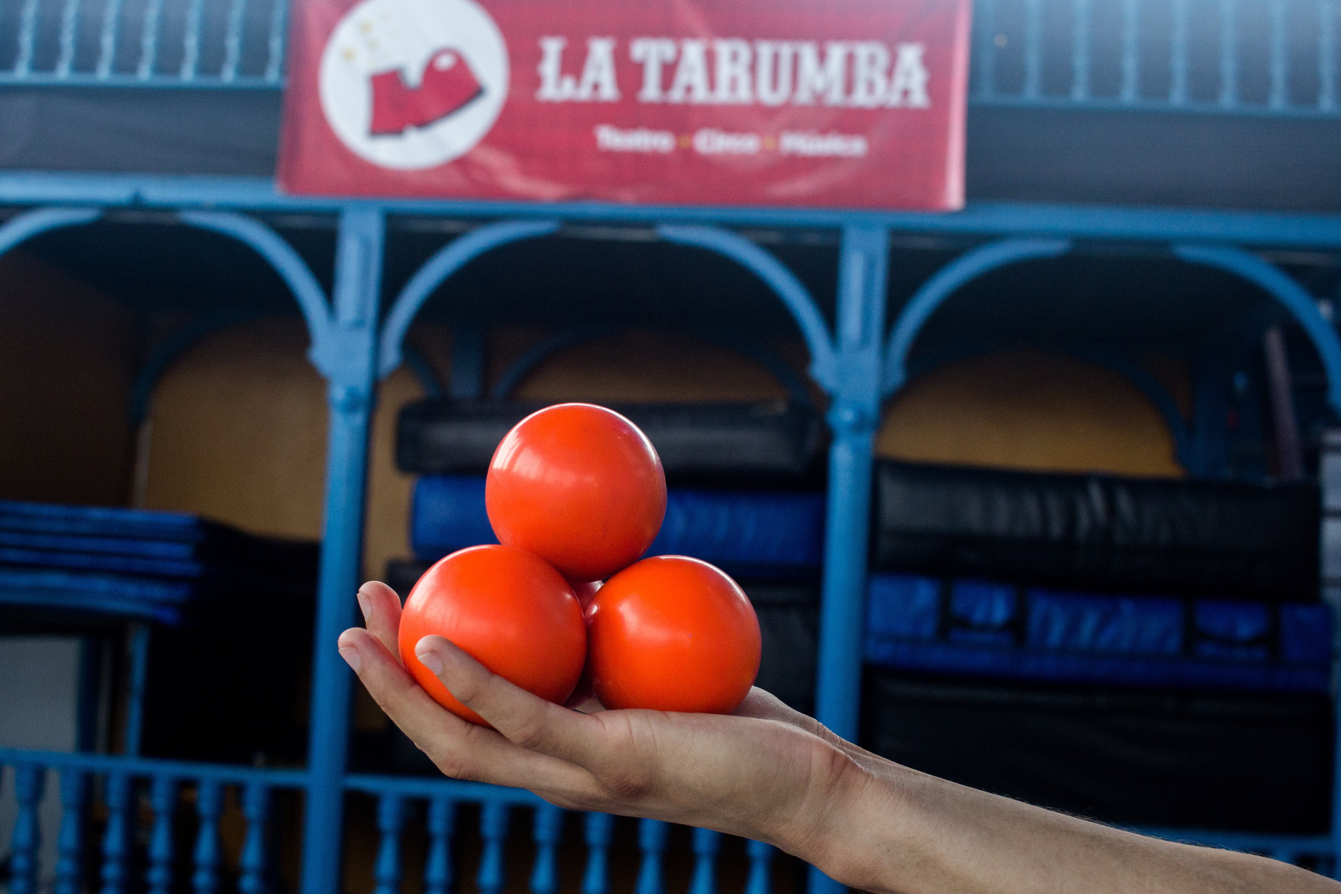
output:
M 386 584 L 404 599 L 428 567 L 428 562 L 393 560 L 386 566 Z M 811 713 L 819 646 L 819 586 L 748 579 L 739 583 L 755 607 L 763 638 L 755 685 L 797 710 Z

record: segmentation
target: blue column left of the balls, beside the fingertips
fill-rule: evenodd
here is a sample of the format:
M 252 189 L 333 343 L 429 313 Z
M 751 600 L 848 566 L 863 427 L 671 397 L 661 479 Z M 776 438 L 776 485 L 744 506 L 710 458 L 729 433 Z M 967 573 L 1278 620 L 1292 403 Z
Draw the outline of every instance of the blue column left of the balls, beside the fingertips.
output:
M 341 808 L 353 676 L 335 651 L 354 623 L 362 562 L 367 434 L 377 374 L 377 303 L 384 220 L 377 208 L 341 216 L 335 252 L 334 323 L 312 353 L 329 373 L 326 531 L 322 541 L 312 657 L 308 787 L 303 831 L 303 894 L 339 890 Z

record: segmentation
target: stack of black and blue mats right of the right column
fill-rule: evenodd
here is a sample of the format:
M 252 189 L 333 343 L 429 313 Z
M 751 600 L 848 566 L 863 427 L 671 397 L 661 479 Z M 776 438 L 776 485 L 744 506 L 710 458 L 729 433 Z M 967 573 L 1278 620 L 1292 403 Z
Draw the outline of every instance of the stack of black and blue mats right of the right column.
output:
M 1318 523 L 1305 485 L 881 462 L 866 743 L 1109 822 L 1326 828 Z

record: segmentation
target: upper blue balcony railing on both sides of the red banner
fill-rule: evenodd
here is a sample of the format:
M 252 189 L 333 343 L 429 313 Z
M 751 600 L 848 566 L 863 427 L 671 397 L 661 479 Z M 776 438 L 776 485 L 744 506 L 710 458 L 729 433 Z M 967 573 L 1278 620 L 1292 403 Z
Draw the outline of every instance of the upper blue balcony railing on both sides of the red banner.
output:
M 0 84 L 279 88 L 288 0 L 11 0 Z M 1341 0 L 975 0 L 984 106 L 1341 117 Z

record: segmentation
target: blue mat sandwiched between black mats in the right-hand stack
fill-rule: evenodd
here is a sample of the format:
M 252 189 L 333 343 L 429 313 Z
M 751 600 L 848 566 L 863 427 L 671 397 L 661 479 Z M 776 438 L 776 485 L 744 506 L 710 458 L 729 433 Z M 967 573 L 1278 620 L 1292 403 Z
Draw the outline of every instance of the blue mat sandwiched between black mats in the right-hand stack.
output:
M 1326 693 L 1326 604 L 1096 595 L 877 574 L 866 661 L 1004 680 Z

